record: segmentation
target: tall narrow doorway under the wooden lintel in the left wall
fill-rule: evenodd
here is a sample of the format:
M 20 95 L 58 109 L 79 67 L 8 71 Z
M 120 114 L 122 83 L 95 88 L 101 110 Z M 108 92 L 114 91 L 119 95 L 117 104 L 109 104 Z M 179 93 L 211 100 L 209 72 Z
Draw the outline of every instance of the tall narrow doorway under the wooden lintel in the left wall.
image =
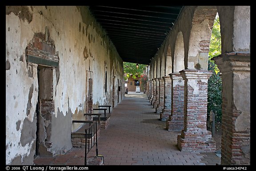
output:
M 51 123 L 54 113 L 53 101 L 53 68 L 47 66 L 37 67 L 38 97 L 36 104 L 36 149 L 35 157 L 52 155 Z M 47 125 L 47 126 L 45 126 Z

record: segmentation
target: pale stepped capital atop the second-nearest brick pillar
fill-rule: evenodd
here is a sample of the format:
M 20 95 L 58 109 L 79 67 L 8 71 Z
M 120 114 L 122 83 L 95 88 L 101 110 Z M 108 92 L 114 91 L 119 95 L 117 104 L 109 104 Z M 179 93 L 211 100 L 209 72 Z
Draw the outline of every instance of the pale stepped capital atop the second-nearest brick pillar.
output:
M 180 74 L 184 79 L 208 79 L 212 75 L 212 71 L 186 69 L 181 70 Z

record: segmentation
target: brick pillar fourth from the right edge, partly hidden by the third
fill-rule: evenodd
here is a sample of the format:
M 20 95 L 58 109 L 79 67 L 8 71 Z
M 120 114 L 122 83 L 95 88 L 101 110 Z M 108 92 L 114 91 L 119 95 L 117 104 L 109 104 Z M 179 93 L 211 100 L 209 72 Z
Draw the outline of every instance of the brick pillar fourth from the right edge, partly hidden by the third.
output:
M 169 76 L 164 76 L 164 109 L 160 114 L 160 120 L 167 120 L 172 110 L 172 80 Z

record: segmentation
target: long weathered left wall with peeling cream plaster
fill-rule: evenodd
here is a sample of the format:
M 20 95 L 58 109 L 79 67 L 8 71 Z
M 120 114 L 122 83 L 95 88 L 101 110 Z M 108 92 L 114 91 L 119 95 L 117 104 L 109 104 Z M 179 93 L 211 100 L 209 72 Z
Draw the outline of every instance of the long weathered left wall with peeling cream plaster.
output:
M 36 105 L 41 85 L 39 65 L 28 62 L 29 44 L 40 54 L 52 54 L 58 62 L 58 66 L 50 66 L 52 112 L 49 120 L 43 118 L 45 130 L 40 130 L 46 134 L 43 139 L 52 155 L 72 148 L 72 119 L 84 119 L 88 79 L 93 80 L 96 105 L 112 105 L 113 73 L 122 82 L 124 79 L 123 62 L 88 7 L 7 6 L 6 164 L 33 164 L 36 151 Z M 117 81 L 115 84 L 117 87 Z

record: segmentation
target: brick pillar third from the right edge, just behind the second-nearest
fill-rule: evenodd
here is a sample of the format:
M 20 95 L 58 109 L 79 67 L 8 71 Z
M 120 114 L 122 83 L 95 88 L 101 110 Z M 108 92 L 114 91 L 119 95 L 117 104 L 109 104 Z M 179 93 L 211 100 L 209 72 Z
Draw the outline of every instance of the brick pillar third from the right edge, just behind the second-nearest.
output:
M 166 121 L 166 129 L 181 132 L 184 127 L 184 79 L 180 73 L 169 75 L 172 79 L 172 112 Z

